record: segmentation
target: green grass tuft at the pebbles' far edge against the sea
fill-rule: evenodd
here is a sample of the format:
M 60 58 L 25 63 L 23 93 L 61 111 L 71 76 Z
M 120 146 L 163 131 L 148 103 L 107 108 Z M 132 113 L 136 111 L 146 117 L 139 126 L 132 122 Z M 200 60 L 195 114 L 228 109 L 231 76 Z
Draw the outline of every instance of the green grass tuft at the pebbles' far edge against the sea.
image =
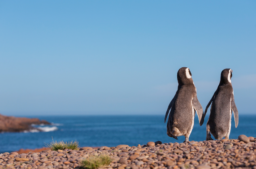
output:
M 64 141 L 54 142 L 52 140 L 51 143 L 47 143 L 45 145 L 53 151 L 64 150 L 66 148 L 72 149 L 72 150 L 79 150 L 78 141 L 73 142 L 73 140 L 71 142 L 64 142 Z

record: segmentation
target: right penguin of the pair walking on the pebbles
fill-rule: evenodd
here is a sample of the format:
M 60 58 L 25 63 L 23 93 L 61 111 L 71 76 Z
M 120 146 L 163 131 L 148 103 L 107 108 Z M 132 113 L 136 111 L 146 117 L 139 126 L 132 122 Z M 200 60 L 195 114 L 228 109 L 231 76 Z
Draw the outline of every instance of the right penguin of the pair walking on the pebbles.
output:
M 238 126 L 238 110 L 234 103 L 234 91 L 231 84 L 232 72 L 231 69 L 222 70 L 220 84 L 205 108 L 204 117 L 208 107 L 213 102 L 206 125 L 206 140 L 213 140 L 210 132 L 215 139 L 229 138 L 232 110 L 235 127 Z

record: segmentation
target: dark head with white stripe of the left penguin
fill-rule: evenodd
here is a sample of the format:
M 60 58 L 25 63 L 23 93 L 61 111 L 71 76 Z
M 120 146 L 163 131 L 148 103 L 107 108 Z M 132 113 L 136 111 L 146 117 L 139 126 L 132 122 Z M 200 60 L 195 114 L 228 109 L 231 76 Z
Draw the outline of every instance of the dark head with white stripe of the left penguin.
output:
M 193 83 L 193 79 L 191 78 L 191 76 L 192 74 L 189 68 L 187 67 L 180 68 L 177 73 L 178 84 L 183 85 L 183 84 Z

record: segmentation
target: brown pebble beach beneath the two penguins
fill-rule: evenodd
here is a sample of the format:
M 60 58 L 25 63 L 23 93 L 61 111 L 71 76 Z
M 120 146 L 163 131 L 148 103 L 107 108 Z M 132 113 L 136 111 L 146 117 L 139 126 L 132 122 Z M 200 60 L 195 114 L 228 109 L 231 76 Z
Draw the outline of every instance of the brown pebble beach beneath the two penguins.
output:
M 157 141 L 133 147 L 5 152 L 0 154 L 0 168 L 74 169 L 81 168 L 82 160 L 88 156 L 100 154 L 107 154 L 112 159 L 104 169 L 256 169 L 256 138 L 240 135 L 239 139 L 187 143 Z

